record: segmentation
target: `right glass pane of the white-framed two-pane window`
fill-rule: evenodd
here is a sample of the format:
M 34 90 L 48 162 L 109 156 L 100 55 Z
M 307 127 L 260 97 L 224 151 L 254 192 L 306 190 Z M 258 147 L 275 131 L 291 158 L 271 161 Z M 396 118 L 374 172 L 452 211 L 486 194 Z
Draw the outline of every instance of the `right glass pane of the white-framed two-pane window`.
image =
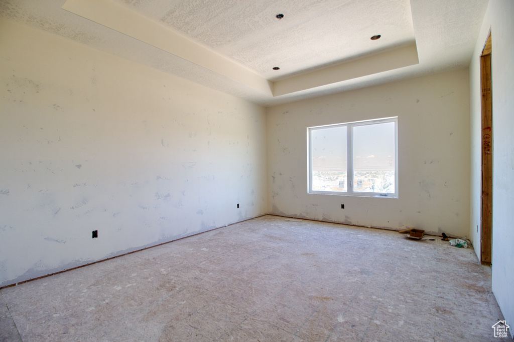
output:
M 354 191 L 395 193 L 395 123 L 354 126 Z

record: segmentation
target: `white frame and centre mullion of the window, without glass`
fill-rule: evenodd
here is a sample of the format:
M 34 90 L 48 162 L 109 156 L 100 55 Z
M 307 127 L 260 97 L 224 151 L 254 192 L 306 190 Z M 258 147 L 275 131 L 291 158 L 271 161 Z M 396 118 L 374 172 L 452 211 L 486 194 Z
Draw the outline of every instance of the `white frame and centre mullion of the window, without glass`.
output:
M 394 149 L 395 149 L 395 172 L 394 172 L 394 193 L 380 193 L 380 192 L 362 192 L 362 191 L 353 191 L 353 128 L 355 126 L 364 126 L 364 125 L 373 125 L 373 124 L 381 124 L 381 123 L 394 123 Z M 312 146 L 311 146 L 311 132 L 313 130 L 325 129 L 325 128 L 334 128 L 334 127 L 346 127 L 346 192 L 339 191 L 319 191 L 313 190 L 313 174 L 312 174 Z M 319 195 L 339 195 L 339 196 L 360 196 L 360 197 L 384 197 L 384 198 L 398 198 L 398 117 L 384 117 L 379 119 L 371 119 L 364 121 L 356 121 L 351 123 L 343 123 L 343 124 L 335 124 L 335 125 L 324 125 L 324 126 L 315 126 L 307 128 L 307 192 L 309 194 L 319 194 Z

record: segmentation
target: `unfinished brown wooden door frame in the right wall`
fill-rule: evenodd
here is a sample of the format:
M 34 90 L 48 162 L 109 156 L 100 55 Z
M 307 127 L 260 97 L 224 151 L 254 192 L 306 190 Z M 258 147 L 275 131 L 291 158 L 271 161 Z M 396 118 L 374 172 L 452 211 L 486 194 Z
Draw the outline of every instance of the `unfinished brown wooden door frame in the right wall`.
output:
M 482 95 L 482 157 L 481 157 L 481 261 L 492 262 L 492 79 L 491 79 L 491 31 L 480 55 L 480 88 Z

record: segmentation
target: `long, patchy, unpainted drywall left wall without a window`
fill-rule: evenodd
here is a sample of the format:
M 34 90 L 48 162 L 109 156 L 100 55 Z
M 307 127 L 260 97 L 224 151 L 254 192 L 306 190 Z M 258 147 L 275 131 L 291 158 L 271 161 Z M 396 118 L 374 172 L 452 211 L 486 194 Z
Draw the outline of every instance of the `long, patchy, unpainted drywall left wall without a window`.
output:
M 0 286 L 266 213 L 260 106 L 6 19 L 0 81 Z

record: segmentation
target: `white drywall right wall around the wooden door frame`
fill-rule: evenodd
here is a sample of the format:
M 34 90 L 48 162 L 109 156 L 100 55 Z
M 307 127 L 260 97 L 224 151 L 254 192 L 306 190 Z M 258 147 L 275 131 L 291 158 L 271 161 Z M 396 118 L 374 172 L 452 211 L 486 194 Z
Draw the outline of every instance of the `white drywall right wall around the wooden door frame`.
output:
M 480 55 L 491 30 L 493 189 L 492 291 L 514 336 L 514 2 L 491 0 L 470 64 L 471 222 L 480 259 L 481 86 Z

